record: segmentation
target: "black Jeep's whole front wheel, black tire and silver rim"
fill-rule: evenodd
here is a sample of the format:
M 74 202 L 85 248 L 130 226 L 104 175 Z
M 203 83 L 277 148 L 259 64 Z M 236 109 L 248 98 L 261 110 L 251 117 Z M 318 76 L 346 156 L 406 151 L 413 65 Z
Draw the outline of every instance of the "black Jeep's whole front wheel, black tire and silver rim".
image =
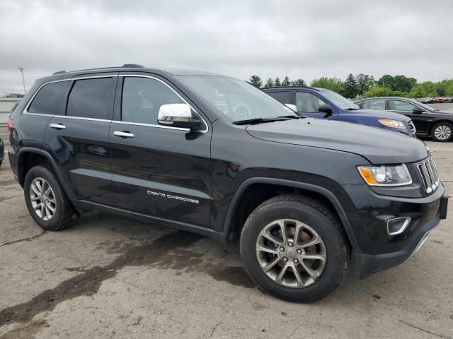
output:
M 293 239 L 289 237 L 285 244 L 275 248 L 280 252 L 279 254 L 269 254 L 268 249 L 273 249 L 275 243 L 270 242 L 262 234 L 263 232 L 274 232 L 274 239 L 283 242 L 283 237 L 281 234 L 279 235 L 282 228 L 277 226 L 277 232 L 275 232 L 272 226 L 277 225 L 275 224 L 277 220 L 286 220 L 283 223 L 285 233 L 289 236 L 292 230 L 296 229 L 294 226 L 301 225 L 299 230 L 303 231 L 299 232 L 300 237 L 297 239 L 299 241 L 304 237 L 309 239 L 306 242 L 304 240 L 302 243 L 294 244 L 295 232 L 293 232 Z M 310 234 L 314 237 L 309 237 Z M 314 234 L 321 238 L 321 242 L 302 248 L 302 246 L 316 242 Z M 290 242 L 293 244 L 292 247 L 289 247 Z M 343 226 L 340 225 L 336 215 L 326 206 L 311 198 L 288 194 L 265 201 L 247 218 L 241 232 L 240 243 L 241 256 L 248 275 L 261 289 L 280 299 L 292 302 L 315 302 L 336 290 L 348 274 L 350 247 Z M 286 247 L 285 250 L 283 246 Z M 258 250 L 263 247 L 265 251 Z M 302 251 L 302 255 L 294 253 L 294 249 L 297 249 L 297 253 Z M 304 258 L 304 255 L 307 257 L 316 255 L 319 258 L 324 257 L 325 260 L 307 259 Z M 296 263 L 297 258 L 299 258 L 298 264 Z M 268 273 L 265 273 L 262 267 L 268 263 L 272 265 L 275 261 L 277 264 Z M 292 266 L 293 263 L 294 266 Z M 309 270 L 315 278 L 309 274 L 309 270 L 305 269 L 310 264 Z M 282 266 L 291 267 L 291 270 L 287 269 L 282 281 L 277 282 L 278 275 L 283 270 Z M 296 278 L 292 267 L 301 271 L 299 278 L 303 279 Z M 301 284 L 301 282 L 303 283 Z

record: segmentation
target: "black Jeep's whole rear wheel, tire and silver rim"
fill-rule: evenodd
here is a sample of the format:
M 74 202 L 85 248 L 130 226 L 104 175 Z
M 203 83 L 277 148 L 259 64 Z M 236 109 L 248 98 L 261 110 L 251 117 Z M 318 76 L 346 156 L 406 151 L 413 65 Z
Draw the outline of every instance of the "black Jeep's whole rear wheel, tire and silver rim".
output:
M 41 192 L 40 186 L 43 187 L 42 191 L 48 192 L 47 195 L 41 194 L 41 198 L 38 194 L 38 192 Z M 62 230 L 79 218 L 79 213 L 69 201 L 62 184 L 60 184 L 52 169 L 48 167 L 32 167 L 25 176 L 23 192 L 28 212 L 44 230 Z M 48 208 L 38 207 L 39 205 L 42 206 L 43 203 Z M 35 210 L 35 208 L 38 209 Z

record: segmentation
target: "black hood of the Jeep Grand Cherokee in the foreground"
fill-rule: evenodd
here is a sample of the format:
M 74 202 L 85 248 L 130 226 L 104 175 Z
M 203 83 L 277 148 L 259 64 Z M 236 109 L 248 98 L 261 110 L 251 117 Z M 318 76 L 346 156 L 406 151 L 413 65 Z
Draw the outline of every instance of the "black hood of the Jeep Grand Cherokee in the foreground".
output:
M 306 118 L 249 125 L 246 130 L 265 141 L 355 153 L 372 164 L 416 162 L 428 156 L 418 139 L 341 121 Z

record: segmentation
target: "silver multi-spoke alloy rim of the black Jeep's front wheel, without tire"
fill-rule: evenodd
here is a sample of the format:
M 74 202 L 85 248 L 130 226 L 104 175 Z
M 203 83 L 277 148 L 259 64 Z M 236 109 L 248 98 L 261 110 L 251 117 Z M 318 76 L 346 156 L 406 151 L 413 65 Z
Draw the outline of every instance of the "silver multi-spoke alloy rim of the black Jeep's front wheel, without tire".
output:
M 326 246 L 309 225 L 297 220 L 270 222 L 258 235 L 256 257 L 275 283 L 292 288 L 316 282 L 326 266 Z

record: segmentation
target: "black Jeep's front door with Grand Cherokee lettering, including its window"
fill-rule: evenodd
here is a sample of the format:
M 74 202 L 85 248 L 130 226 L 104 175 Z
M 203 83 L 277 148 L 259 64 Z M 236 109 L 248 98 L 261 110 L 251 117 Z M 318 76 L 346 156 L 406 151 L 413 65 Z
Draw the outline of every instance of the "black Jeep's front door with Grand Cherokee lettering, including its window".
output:
M 177 103 L 185 100 L 165 79 L 120 76 L 110 126 L 115 201 L 134 213 L 209 227 L 212 131 L 159 125 L 161 105 Z

